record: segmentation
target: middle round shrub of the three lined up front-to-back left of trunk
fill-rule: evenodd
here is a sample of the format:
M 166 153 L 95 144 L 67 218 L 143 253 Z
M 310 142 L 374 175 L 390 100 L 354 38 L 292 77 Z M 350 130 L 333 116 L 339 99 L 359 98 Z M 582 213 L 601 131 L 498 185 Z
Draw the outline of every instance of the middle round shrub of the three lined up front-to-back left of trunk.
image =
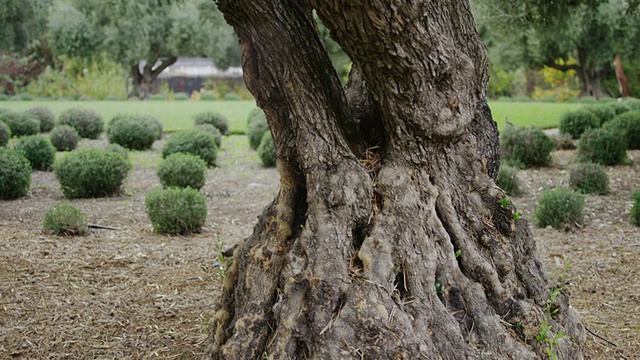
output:
M 158 165 L 156 173 L 165 188 L 190 187 L 200 190 L 206 179 L 207 163 L 195 155 L 175 153 Z

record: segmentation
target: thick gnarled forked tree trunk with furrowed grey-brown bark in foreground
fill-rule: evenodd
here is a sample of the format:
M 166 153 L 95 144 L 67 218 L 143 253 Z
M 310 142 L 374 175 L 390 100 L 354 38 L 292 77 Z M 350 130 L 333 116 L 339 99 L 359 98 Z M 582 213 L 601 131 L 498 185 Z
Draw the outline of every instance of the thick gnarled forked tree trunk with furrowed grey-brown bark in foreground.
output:
M 234 252 L 205 358 L 582 358 L 576 313 L 494 184 L 466 0 L 218 3 L 281 187 Z M 353 60 L 346 90 L 312 7 Z

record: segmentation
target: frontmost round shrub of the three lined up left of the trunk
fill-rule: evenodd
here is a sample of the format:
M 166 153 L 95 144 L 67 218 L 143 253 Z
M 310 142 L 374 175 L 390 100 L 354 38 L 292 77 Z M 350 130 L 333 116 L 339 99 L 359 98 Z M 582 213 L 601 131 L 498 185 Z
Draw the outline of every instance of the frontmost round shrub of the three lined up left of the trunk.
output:
M 199 232 L 207 219 L 207 198 L 192 188 L 151 190 L 145 207 L 153 230 L 160 234 Z

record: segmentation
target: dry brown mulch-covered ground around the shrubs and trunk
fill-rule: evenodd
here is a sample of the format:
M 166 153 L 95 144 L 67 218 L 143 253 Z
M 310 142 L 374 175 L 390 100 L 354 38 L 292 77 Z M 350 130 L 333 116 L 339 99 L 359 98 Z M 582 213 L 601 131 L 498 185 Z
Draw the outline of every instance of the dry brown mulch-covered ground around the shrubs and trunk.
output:
M 225 141 L 203 189 L 208 223 L 194 236 L 151 231 L 144 196 L 160 184 L 149 167 L 133 170 L 124 195 L 74 200 L 90 222 L 118 231 L 45 234 L 43 214 L 63 198 L 52 173 L 34 173 L 28 197 L 0 202 L 0 359 L 195 358 L 219 288 L 217 239 L 247 237 L 278 187 L 277 171 L 259 164 L 244 137 Z M 514 203 L 525 218 L 543 189 L 566 185 L 572 157 L 556 152 L 552 168 L 520 173 L 525 193 Z M 582 229 L 534 229 L 549 273 L 567 279 L 597 334 L 587 336 L 588 359 L 640 358 L 640 229 L 628 220 L 640 152 L 630 157 L 632 166 L 607 168 L 611 194 L 587 196 Z

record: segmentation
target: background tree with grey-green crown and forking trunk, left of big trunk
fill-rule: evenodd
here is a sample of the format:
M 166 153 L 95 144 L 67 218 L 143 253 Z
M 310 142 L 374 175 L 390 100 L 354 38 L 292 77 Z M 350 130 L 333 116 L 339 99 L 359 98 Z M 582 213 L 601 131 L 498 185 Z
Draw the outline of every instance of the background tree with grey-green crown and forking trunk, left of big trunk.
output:
M 60 55 L 107 53 L 129 69 L 129 95 L 140 98 L 156 91 L 156 78 L 178 56 L 211 56 L 222 68 L 240 63 L 235 36 L 205 0 L 57 1 L 48 34 Z

